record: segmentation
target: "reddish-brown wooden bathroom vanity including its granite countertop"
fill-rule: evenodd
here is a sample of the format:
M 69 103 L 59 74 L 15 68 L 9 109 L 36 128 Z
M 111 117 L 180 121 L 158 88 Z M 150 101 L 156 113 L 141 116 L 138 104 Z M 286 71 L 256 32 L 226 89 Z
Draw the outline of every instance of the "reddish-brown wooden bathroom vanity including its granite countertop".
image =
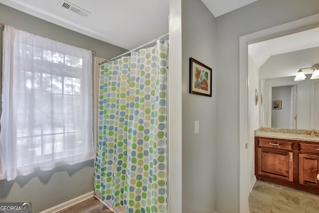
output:
M 319 131 L 256 130 L 255 175 L 258 180 L 319 195 Z

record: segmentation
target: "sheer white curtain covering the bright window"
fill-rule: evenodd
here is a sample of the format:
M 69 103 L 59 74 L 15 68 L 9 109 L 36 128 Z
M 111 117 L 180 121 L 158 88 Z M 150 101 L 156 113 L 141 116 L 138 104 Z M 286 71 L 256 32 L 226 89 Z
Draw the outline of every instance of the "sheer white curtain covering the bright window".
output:
M 91 51 L 3 32 L 0 179 L 93 159 Z

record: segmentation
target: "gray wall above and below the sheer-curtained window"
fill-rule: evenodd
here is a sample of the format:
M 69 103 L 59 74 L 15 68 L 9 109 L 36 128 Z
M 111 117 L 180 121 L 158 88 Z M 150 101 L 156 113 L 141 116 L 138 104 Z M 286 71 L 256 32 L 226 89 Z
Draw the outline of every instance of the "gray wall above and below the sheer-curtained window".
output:
M 126 51 L 3 4 L 0 4 L 0 22 L 74 46 L 95 50 L 96 55 L 102 58 L 111 58 Z M 0 51 L 0 58 L 2 58 L 2 51 Z M 13 181 L 1 180 L 0 202 L 32 202 L 33 212 L 37 213 L 91 192 L 93 175 L 94 161 L 90 160 L 47 172 L 19 176 Z

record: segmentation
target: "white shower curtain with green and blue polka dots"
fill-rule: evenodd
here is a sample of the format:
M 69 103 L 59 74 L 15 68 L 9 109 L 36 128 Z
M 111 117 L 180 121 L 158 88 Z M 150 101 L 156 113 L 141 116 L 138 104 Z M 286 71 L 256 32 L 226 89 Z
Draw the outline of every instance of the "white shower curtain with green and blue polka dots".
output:
M 100 67 L 95 192 L 127 213 L 167 212 L 166 40 Z

